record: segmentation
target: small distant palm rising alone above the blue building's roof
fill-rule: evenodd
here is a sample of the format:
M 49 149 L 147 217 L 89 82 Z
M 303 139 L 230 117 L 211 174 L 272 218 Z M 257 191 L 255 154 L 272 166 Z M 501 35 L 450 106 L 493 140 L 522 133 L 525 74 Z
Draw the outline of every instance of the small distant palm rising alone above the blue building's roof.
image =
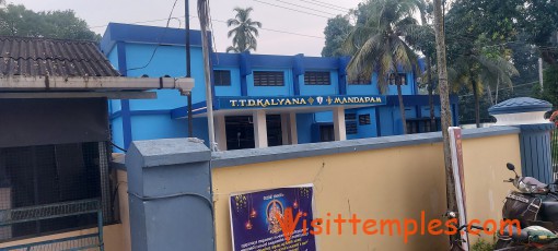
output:
M 234 19 L 226 21 L 229 27 L 234 26 L 229 31 L 228 37 L 233 37 L 233 45 L 226 48 L 226 52 L 243 52 L 246 50 L 256 50 L 258 28 L 261 28 L 261 23 L 253 21 L 249 13 L 253 11 L 252 7 L 242 9 L 234 8 L 236 15 Z

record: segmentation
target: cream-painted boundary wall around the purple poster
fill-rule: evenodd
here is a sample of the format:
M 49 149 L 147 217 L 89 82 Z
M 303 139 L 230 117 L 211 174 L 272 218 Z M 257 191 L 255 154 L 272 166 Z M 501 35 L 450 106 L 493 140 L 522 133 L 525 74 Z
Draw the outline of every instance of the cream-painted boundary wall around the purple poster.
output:
M 508 162 L 520 164 L 516 133 L 463 141 L 469 218 L 500 220 L 510 177 Z M 362 219 L 420 220 L 441 218 L 446 211 L 441 143 L 361 151 L 212 168 L 217 250 L 231 250 L 229 194 L 294 184 L 314 183 L 315 217 L 327 213 Z M 333 222 L 332 222 L 333 224 Z M 335 226 L 334 224 L 332 226 Z M 445 236 L 317 236 L 319 250 L 446 250 Z M 362 229 L 362 224 L 359 225 Z M 332 232 L 336 232 L 332 229 Z M 490 239 L 492 237 L 486 237 Z

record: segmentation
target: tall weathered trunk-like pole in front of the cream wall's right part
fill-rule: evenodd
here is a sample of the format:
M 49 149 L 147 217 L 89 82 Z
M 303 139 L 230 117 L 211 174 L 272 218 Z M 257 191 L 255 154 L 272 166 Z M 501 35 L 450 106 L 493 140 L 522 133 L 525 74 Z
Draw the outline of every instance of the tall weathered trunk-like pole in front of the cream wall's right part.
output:
M 455 196 L 455 180 L 452 171 L 452 154 L 450 150 L 450 132 L 447 128 L 452 127 L 452 111 L 450 109 L 450 91 L 447 87 L 447 65 L 445 58 L 445 34 L 443 24 L 442 2 L 434 0 L 434 31 L 435 49 L 438 58 L 438 77 L 440 91 L 440 104 L 442 108 L 442 135 L 444 140 L 444 167 L 445 167 L 445 190 L 447 199 L 447 211 L 457 212 L 457 199 Z M 454 241 L 456 236 L 451 236 L 450 241 Z

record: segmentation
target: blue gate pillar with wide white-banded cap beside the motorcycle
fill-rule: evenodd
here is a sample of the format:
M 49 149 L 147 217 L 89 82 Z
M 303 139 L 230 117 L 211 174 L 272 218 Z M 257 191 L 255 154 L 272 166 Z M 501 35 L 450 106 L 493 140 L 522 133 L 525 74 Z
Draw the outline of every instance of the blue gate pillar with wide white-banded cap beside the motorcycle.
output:
M 497 119 L 495 125 L 513 125 L 521 129 L 522 175 L 534 177 L 545 183 L 554 182 L 550 131 L 555 125 L 544 119 L 545 112 L 550 109 L 550 103 L 530 97 L 508 99 L 488 109 Z

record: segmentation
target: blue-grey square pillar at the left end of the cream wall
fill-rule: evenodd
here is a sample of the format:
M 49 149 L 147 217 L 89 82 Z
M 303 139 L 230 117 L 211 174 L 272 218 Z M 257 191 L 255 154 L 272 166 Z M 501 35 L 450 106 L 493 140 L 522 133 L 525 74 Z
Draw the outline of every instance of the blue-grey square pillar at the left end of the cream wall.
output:
M 131 143 L 126 154 L 131 250 L 214 250 L 210 159 L 197 139 Z

